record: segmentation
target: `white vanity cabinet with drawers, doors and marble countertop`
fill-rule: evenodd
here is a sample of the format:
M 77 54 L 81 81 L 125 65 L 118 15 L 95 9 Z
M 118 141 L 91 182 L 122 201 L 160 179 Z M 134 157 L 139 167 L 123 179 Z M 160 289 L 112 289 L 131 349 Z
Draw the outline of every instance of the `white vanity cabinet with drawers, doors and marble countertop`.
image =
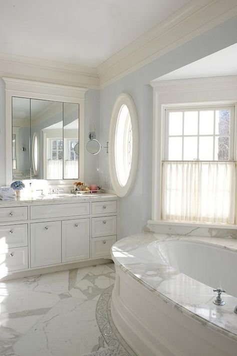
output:
M 114 194 L 0 201 L 0 278 L 104 263 L 117 238 L 117 210 Z

